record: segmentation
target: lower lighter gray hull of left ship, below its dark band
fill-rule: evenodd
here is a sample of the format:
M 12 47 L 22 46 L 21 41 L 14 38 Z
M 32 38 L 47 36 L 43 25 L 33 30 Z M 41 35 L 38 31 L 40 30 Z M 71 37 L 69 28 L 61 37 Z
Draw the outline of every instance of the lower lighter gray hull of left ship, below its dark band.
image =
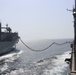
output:
M 8 42 L 0 42 L 0 56 L 4 55 L 6 53 L 11 52 L 14 50 L 16 43 L 18 43 L 19 38 L 13 40 L 13 41 L 8 41 Z

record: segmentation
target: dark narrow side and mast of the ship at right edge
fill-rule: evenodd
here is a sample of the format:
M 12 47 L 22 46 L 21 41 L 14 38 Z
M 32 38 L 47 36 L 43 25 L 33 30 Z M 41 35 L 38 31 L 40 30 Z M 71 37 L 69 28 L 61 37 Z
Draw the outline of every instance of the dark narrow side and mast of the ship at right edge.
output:
M 70 75 L 76 75 L 76 0 L 75 0 L 75 6 L 73 8 L 73 17 L 74 17 L 74 43 L 71 46 L 72 53 L 70 61 Z

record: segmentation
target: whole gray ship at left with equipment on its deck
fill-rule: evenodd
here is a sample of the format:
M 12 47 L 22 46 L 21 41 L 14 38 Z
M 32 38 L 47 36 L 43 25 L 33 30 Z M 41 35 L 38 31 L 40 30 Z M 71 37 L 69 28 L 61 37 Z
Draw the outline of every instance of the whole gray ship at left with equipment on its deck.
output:
M 0 23 L 0 56 L 13 51 L 19 42 L 19 38 L 18 33 L 12 32 L 8 24 L 6 27 L 2 27 Z

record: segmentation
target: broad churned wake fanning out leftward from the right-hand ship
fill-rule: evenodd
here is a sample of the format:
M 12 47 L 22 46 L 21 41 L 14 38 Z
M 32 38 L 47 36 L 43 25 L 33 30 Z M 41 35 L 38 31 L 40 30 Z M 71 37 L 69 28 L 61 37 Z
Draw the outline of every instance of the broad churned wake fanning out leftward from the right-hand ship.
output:
M 10 75 L 67 75 L 69 65 L 65 62 L 65 59 L 70 57 L 70 51 L 68 51 L 62 55 L 55 55 L 52 58 L 27 63 L 24 68 L 12 71 Z

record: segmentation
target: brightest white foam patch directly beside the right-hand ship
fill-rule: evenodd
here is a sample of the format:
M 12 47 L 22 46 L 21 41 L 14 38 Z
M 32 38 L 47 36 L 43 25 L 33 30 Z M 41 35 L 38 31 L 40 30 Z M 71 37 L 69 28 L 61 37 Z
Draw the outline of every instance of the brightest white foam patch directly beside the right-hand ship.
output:
M 45 69 L 44 75 L 66 75 L 68 64 L 65 62 L 65 59 L 70 57 L 70 51 L 65 52 L 63 55 L 57 55 L 58 59 L 52 61 L 53 68 L 51 70 Z

